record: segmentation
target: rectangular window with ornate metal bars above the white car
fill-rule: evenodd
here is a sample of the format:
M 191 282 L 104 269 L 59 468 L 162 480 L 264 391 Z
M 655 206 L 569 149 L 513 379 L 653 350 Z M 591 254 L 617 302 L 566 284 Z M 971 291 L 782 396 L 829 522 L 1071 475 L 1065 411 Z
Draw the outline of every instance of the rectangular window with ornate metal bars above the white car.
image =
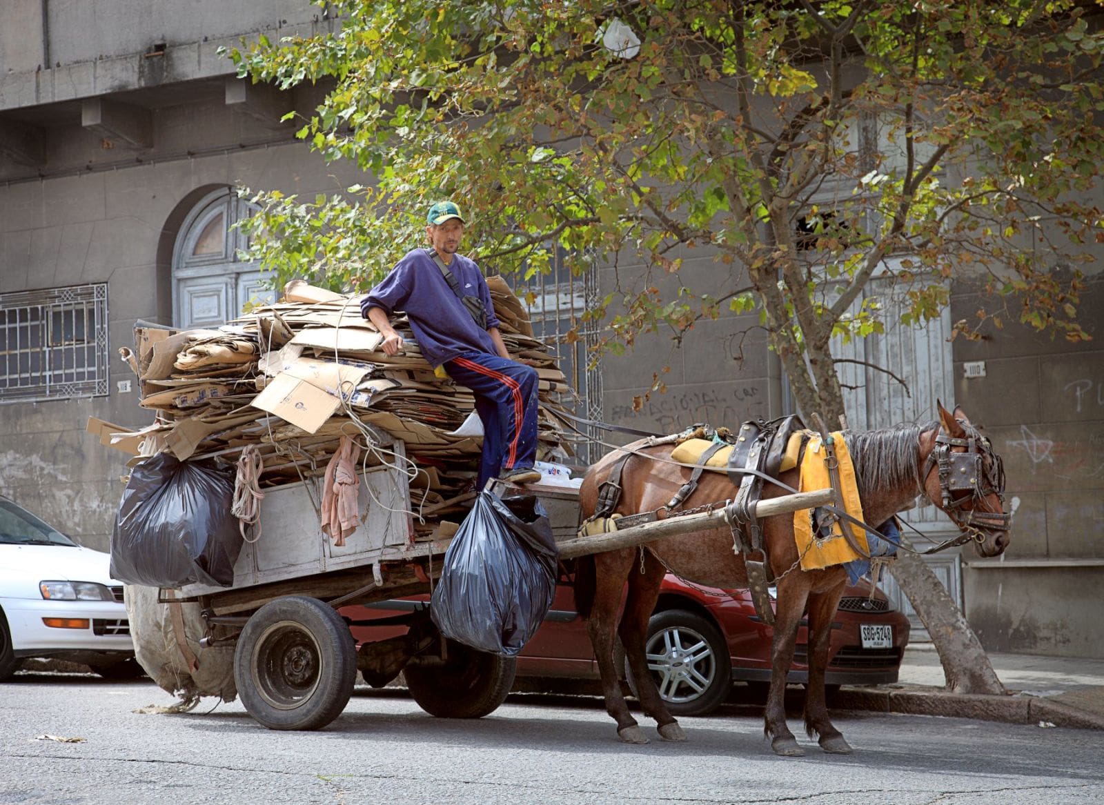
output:
M 0 403 L 107 394 L 107 284 L 0 294 Z

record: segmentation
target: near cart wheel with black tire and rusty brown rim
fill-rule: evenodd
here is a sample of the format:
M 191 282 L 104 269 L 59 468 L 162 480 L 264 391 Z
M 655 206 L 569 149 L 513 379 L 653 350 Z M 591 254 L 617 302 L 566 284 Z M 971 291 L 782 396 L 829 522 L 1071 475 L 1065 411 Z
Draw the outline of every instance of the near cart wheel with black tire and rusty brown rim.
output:
M 234 681 L 250 716 L 270 730 L 317 730 L 341 714 L 357 652 L 341 616 L 318 599 L 270 601 L 242 629 Z

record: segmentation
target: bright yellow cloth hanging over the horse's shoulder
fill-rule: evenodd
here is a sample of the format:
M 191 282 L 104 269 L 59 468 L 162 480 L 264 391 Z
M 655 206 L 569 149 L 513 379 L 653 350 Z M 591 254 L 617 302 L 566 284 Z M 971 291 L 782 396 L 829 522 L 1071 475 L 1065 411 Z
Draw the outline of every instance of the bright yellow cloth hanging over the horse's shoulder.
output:
M 851 464 L 851 454 L 843 443 L 843 435 L 839 432 L 832 434 L 832 444 L 836 448 L 836 458 L 839 460 L 839 483 L 842 487 L 843 509 L 851 517 L 862 519 L 862 501 L 859 500 L 859 485 L 854 479 L 854 466 Z M 821 445 L 820 436 L 813 436 L 805 446 L 805 456 L 802 458 L 802 491 L 813 491 L 814 489 L 827 489 L 831 486 L 831 478 L 828 475 L 828 467 L 825 466 L 825 449 Z M 797 542 L 797 552 L 802 557 L 802 570 L 820 570 L 830 568 L 834 564 L 843 564 L 854 559 L 863 559 L 847 539 L 843 538 L 841 525 L 843 521 L 837 520 L 832 523 L 831 536 L 824 539 L 814 537 L 813 533 L 813 509 L 798 509 L 794 512 L 794 539 Z M 868 554 L 867 532 L 850 522 L 846 523 L 851 529 L 851 536 Z

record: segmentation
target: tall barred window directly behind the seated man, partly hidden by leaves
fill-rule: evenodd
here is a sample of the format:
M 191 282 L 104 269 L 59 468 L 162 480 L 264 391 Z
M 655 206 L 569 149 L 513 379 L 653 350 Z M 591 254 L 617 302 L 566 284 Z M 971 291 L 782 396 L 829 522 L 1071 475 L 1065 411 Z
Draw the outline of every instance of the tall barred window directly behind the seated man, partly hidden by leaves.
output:
M 598 304 L 597 271 L 591 267 L 575 275 L 565 265 L 564 256 L 564 252 L 556 248 L 551 271 L 518 280 L 517 293 L 529 310 L 533 336 L 559 357 L 560 370 L 571 386 L 571 393 L 562 394 L 560 402 L 575 416 L 601 421 L 602 374 L 597 366 L 591 367 L 601 326 L 582 320 L 583 313 Z M 527 301 L 528 298 L 532 301 Z M 569 338 L 567 333 L 573 330 L 577 339 Z M 584 465 L 596 462 L 603 453 L 596 439 L 603 432 L 577 424 L 575 427 L 585 437 L 572 446 L 575 460 Z

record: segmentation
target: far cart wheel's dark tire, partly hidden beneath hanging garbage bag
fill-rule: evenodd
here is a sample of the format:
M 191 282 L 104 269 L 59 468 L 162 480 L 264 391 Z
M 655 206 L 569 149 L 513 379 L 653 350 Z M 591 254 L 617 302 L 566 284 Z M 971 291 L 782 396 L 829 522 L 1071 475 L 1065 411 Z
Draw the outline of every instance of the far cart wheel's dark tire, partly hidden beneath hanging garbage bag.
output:
M 407 665 L 406 687 L 423 710 L 443 719 L 479 719 L 506 701 L 518 663 L 448 642 L 444 665 Z

